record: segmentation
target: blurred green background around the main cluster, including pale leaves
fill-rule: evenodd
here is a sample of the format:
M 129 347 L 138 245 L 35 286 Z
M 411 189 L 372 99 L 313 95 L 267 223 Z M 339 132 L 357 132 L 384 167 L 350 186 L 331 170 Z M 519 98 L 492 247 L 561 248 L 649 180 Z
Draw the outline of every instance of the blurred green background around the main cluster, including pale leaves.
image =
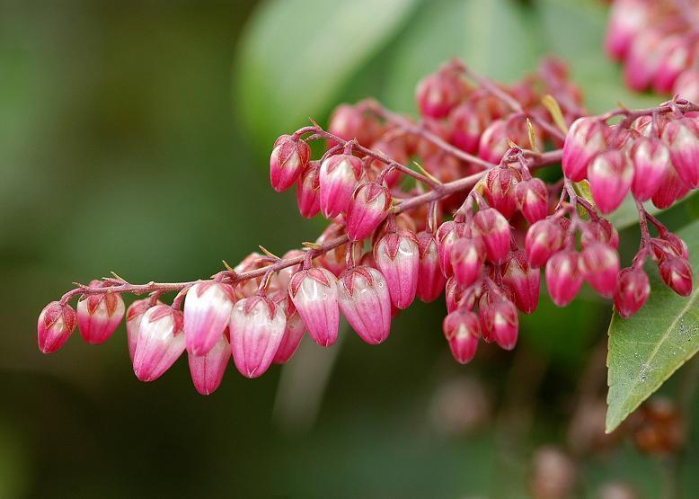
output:
M 610 315 L 591 293 L 562 311 L 542 299 L 515 352 L 466 367 L 437 302 L 378 347 L 346 334 L 261 379 L 230 366 L 210 397 L 184 358 L 138 382 L 123 326 L 42 355 L 36 317 L 72 281 L 196 279 L 313 240 L 322 222 L 270 189 L 274 138 L 367 95 L 413 111 L 417 80 L 453 55 L 512 81 L 554 52 L 592 110 L 658 101 L 603 57 L 605 15 L 562 0 L 0 0 L 0 497 L 526 497 L 535 450 L 573 445 Z M 579 496 L 662 486 L 625 441 L 579 464 Z

